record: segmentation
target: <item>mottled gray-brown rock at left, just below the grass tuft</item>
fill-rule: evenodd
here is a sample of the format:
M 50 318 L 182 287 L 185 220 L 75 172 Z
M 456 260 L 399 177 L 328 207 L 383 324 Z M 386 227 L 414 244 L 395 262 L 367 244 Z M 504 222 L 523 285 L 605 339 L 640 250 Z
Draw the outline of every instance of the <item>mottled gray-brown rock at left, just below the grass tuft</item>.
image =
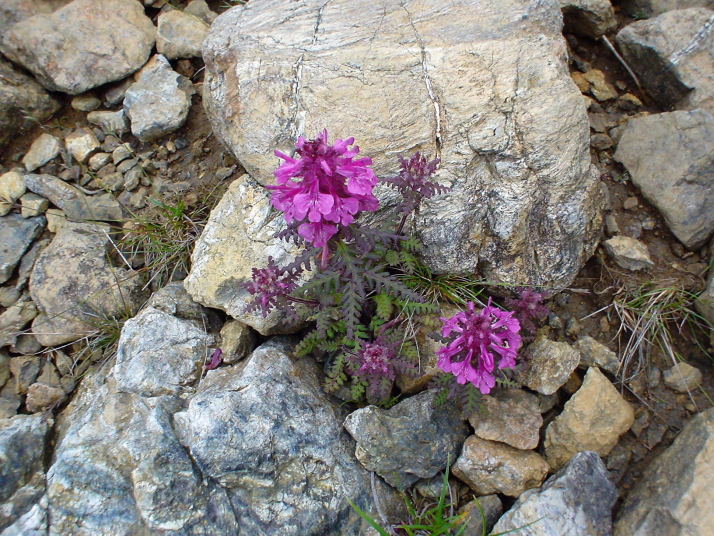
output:
M 113 266 L 109 227 L 66 222 L 40 254 L 30 276 L 30 294 L 40 310 L 32 330 L 43 346 L 77 340 L 103 322 L 131 315 L 142 303 L 143 281 Z

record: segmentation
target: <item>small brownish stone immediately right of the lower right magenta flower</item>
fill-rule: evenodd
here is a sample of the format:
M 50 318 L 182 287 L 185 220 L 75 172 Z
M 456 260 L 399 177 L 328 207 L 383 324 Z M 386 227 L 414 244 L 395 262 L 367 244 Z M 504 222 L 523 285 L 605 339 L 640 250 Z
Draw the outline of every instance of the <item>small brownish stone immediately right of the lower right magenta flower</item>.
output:
M 540 336 L 524 352 L 524 363 L 516 368 L 516 378 L 544 395 L 555 393 L 580 363 L 580 352 L 566 342 Z

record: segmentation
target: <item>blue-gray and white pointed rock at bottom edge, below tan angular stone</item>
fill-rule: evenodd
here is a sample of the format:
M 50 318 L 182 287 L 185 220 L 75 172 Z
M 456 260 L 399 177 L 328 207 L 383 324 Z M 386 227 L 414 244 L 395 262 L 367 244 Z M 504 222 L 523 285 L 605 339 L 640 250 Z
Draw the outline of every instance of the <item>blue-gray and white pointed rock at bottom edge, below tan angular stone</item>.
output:
M 522 536 L 610 536 L 615 485 L 595 452 L 579 452 L 539 489 L 523 493 L 494 533 Z

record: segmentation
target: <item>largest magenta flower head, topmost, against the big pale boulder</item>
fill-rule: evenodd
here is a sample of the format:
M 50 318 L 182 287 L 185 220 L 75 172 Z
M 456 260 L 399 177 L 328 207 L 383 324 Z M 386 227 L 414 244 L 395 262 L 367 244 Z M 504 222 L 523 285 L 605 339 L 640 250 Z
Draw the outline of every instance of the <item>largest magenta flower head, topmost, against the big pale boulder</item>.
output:
M 281 151 L 284 162 L 275 171 L 277 184 L 271 203 L 283 211 L 288 223 L 297 222 L 298 234 L 316 247 L 325 247 L 339 231 L 363 211 L 373 212 L 379 201 L 372 194 L 377 176 L 370 158 L 358 158 L 354 138 L 327 143 L 327 130 L 314 140 L 302 136 L 295 144 L 298 158 Z

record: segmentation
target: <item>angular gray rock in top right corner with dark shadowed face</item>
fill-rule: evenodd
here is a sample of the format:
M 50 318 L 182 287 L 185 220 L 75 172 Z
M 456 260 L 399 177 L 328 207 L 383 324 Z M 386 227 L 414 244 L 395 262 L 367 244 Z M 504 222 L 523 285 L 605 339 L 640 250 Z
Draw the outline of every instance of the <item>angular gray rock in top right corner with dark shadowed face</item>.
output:
M 678 9 L 626 26 L 617 44 L 660 105 L 714 113 L 713 25 L 711 9 Z

